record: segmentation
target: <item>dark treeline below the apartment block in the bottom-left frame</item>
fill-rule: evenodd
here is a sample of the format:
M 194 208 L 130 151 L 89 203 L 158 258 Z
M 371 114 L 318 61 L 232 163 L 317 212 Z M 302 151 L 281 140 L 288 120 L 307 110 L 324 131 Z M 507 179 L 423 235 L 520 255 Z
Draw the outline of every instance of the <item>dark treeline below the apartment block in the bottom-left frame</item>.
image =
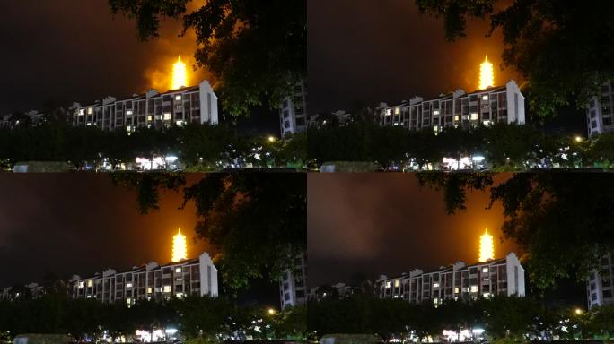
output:
M 236 333 L 256 339 L 298 338 L 306 331 L 305 307 L 269 314 L 263 306 L 240 306 L 226 297 L 185 297 L 165 303 L 139 301 L 103 304 L 94 299 L 72 299 L 66 294 L 0 301 L 0 332 L 66 333 L 75 339 L 131 336 L 136 330 L 177 328 L 187 339 L 215 339 Z M 259 323 L 260 331 L 254 330 Z

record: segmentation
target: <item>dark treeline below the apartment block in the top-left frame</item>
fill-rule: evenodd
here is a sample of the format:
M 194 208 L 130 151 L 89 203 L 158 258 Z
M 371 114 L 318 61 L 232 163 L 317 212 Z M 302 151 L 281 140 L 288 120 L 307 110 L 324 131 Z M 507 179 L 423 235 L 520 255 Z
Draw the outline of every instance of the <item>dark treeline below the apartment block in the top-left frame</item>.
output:
M 102 131 L 97 127 L 73 127 L 54 121 L 13 130 L 0 129 L 0 160 L 70 161 L 85 163 L 134 162 L 136 157 L 174 155 L 188 170 L 216 170 L 236 162 L 254 167 L 302 167 L 306 155 L 304 136 L 269 141 L 268 136 L 238 134 L 226 125 L 185 125 L 160 131 L 139 128 Z M 255 153 L 258 154 L 257 159 Z

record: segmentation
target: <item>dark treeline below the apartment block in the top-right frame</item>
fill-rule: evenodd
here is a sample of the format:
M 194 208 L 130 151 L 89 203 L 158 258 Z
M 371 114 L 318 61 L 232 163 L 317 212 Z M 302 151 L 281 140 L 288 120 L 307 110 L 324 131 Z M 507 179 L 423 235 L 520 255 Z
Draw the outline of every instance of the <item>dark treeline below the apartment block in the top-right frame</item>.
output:
M 384 168 L 413 159 L 419 166 L 440 164 L 444 157 L 481 155 L 488 168 L 526 170 L 538 164 L 563 168 L 614 166 L 614 134 L 576 141 L 575 136 L 544 133 L 531 125 L 496 124 L 473 130 L 408 131 L 399 126 L 359 121 L 344 126 L 311 128 L 307 133 L 308 159 L 377 161 Z

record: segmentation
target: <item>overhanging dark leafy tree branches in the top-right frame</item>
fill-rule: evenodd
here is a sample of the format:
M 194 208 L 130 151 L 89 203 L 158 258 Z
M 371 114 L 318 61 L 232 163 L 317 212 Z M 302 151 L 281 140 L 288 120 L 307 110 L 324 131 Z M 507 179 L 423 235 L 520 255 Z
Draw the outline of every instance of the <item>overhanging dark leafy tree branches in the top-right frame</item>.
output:
M 609 0 L 416 0 L 422 13 L 443 18 L 445 37 L 465 36 L 473 18 L 490 21 L 504 36 L 504 65 L 526 79 L 531 111 L 552 116 L 556 107 L 587 104 L 614 76 L 614 24 Z M 586 21 L 586 18 L 591 18 Z

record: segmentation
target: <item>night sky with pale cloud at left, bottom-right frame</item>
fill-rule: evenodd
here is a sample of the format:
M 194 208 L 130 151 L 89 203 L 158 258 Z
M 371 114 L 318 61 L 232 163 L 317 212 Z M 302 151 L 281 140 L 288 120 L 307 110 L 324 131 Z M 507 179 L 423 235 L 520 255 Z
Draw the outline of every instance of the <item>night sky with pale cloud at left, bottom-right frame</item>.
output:
M 496 175 L 495 184 L 508 177 Z M 488 192 L 468 193 L 467 211 L 447 215 L 443 193 L 420 189 L 412 174 L 309 174 L 307 183 L 310 287 L 348 282 L 356 273 L 376 278 L 478 262 L 485 228 L 496 258 L 522 256 L 513 242 L 502 242 L 503 208 L 497 202 L 486 209 Z M 582 285 L 560 287 L 549 299 L 584 305 Z

